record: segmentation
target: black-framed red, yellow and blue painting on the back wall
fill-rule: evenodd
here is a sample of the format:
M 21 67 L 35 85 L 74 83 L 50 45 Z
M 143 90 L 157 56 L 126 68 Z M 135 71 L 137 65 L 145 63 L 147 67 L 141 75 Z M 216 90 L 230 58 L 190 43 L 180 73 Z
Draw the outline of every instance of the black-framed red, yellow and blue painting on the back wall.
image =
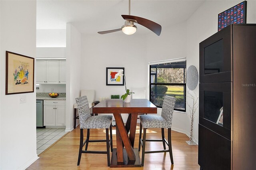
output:
M 119 70 L 123 70 L 124 74 L 124 67 L 107 67 L 106 68 L 106 85 L 124 85 L 124 77 L 118 76 L 115 78 L 116 73 Z

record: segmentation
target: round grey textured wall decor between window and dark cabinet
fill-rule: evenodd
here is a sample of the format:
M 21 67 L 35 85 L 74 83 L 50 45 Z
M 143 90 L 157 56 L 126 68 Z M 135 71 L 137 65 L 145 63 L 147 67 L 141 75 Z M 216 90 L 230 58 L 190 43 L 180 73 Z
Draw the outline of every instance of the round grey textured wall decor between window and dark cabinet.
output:
M 198 85 L 198 71 L 194 65 L 190 65 L 187 69 L 187 85 L 188 89 L 194 90 Z

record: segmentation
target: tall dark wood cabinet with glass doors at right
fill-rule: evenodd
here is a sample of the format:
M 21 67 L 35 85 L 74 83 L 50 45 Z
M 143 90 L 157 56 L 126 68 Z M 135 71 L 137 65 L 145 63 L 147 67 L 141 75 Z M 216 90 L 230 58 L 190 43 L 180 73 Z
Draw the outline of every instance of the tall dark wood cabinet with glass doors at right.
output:
M 232 24 L 199 46 L 198 164 L 255 169 L 256 24 Z

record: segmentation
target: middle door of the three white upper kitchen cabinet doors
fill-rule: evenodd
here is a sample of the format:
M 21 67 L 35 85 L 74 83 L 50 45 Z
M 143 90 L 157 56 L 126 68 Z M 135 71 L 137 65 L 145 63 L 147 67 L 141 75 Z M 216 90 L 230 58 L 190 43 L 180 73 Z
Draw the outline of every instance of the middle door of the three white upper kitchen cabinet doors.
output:
M 59 60 L 46 60 L 46 83 L 59 84 Z

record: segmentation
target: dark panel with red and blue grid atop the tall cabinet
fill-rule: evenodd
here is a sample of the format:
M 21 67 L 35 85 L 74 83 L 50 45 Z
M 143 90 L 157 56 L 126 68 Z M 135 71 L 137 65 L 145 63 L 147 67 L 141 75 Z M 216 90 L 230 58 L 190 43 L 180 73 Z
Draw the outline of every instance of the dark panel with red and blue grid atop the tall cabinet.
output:
M 247 1 L 241 2 L 218 14 L 218 31 L 230 24 L 246 24 Z

